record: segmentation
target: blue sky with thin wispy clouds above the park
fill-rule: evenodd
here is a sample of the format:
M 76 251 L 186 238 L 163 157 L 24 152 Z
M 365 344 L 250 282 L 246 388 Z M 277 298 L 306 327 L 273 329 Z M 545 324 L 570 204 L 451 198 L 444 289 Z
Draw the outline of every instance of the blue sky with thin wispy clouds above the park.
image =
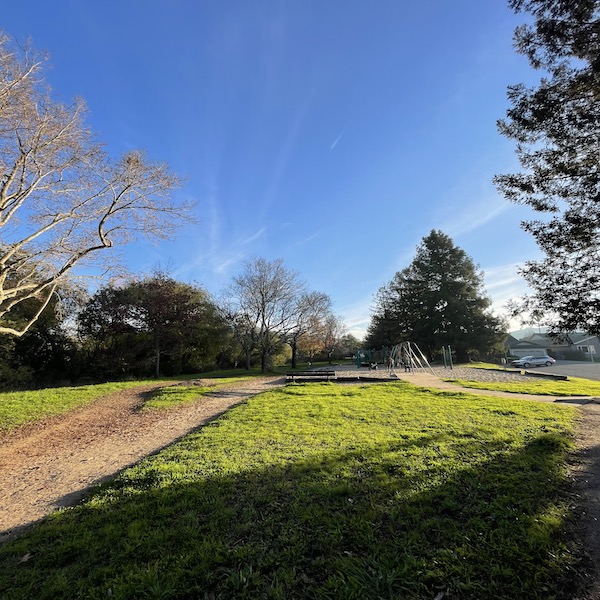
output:
M 377 289 L 441 229 L 502 313 L 539 256 L 530 216 L 492 185 L 517 169 L 496 130 L 535 81 L 503 0 L 29 0 L 0 28 L 50 54 L 107 148 L 184 177 L 197 225 L 128 248 L 134 272 L 218 295 L 251 257 L 282 258 L 362 337 Z

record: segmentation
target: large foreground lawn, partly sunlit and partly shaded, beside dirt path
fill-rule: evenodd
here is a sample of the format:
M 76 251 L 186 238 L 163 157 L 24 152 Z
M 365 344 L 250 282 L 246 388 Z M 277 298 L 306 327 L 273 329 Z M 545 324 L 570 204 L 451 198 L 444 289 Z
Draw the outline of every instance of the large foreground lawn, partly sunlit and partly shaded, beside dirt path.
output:
M 576 414 L 290 385 L 0 546 L 0 597 L 569 598 Z

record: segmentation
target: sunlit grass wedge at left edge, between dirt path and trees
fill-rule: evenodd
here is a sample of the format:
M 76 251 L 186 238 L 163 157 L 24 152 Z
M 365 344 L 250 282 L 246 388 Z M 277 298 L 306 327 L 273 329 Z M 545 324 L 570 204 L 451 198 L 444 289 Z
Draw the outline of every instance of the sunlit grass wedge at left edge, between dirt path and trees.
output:
M 119 390 L 155 382 L 125 381 L 28 392 L 3 392 L 0 393 L 0 431 L 66 413 Z

